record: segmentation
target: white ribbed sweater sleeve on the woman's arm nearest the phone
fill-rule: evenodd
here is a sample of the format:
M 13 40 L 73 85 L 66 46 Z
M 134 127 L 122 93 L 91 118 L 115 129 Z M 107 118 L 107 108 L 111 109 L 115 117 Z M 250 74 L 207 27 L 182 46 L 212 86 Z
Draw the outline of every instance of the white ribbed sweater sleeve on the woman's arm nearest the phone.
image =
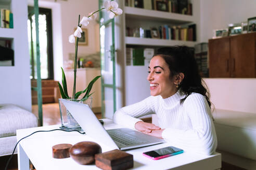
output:
M 206 98 L 198 93 L 190 94 L 183 106 L 185 114 L 191 121 L 192 129 L 167 128 L 162 132 L 162 137 L 183 149 L 193 149 L 201 154 L 214 153 L 217 138 Z

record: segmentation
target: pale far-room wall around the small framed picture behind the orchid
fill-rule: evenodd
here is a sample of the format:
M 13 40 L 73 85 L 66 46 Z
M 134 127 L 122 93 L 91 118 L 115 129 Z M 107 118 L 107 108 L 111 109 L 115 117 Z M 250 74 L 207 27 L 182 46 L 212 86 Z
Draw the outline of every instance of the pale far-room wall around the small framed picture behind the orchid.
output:
M 29 0 L 33 4 L 33 0 Z M 52 9 L 53 21 L 53 51 L 54 51 L 54 79 L 61 81 L 63 62 L 69 59 L 69 53 L 75 53 L 75 44 L 68 41 L 78 26 L 78 17 L 88 16 L 89 12 L 98 9 L 96 0 L 39 0 L 39 7 Z M 84 27 L 84 26 L 82 26 Z M 96 21 L 91 21 L 84 27 L 88 30 L 88 46 L 78 46 L 78 54 L 92 54 L 99 51 L 99 27 Z

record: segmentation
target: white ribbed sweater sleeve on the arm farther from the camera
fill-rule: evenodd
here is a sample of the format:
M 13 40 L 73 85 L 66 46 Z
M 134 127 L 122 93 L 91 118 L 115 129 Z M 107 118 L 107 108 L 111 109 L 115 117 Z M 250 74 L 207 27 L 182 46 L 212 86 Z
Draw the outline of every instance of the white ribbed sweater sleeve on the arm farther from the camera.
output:
M 158 96 L 149 96 L 141 102 L 122 107 L 114 113 L 113 122 L 135 129 L 135 123 L 142 121 L 139 117 L 156 112 L 158 102 Z

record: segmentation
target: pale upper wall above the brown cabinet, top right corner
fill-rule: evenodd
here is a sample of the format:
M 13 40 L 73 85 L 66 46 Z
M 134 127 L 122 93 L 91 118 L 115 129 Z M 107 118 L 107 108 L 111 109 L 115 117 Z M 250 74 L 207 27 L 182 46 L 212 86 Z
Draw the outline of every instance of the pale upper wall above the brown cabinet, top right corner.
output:
M 228 24 L 256 17 L 255 6 L 254 0 L 201 0 L 201 41 L 208 42 L 214 29 L 227 28 Z

